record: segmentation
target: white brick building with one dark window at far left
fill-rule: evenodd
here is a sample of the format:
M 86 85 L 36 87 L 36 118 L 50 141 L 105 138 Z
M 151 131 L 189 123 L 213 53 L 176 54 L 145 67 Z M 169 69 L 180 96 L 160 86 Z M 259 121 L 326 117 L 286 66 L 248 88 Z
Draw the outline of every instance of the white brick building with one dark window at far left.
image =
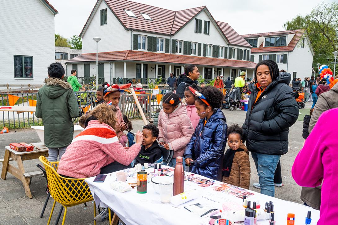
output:
M 43 84 L 55 61 L 57 13 L 45 0 L 1 1 L 0 84 Z

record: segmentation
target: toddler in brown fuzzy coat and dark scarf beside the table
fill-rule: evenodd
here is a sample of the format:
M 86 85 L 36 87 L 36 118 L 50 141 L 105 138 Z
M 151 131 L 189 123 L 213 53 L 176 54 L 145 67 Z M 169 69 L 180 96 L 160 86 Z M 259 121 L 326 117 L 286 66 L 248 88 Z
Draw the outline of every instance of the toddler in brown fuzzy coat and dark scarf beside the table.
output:
M 223 159 L 222 182 L 249 189 L 249 152 L 242 142 L 243 130 L 232 124 L 227 130 L 228 145 Z

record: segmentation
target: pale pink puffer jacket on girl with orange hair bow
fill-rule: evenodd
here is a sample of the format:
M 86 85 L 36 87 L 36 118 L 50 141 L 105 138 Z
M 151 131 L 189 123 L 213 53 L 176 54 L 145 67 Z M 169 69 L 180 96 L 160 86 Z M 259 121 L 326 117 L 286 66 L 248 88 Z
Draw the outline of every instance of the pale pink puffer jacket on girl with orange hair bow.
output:
M 183 156 L 186 145 L 194 133 L 186 106 L 180 103 L 170 114 L 161 109 L 158 128 L 160 130 L 159 142 L 169 144 L 170 149 L 174 150 L 173 158 Z

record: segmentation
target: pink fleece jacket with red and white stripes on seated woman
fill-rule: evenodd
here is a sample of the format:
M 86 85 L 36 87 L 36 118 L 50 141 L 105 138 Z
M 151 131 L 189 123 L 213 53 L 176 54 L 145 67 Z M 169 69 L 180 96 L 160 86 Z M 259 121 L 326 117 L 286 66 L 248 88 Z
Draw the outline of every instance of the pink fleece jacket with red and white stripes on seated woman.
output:
M 129 165 L 140 150 L 138 144 L 125 149 L 111 126 L 91 120 L 86 129 L 68 145 L 57 172 L 75 178 L 93 177 L 100 173 L 103 166 L 112 162 Z

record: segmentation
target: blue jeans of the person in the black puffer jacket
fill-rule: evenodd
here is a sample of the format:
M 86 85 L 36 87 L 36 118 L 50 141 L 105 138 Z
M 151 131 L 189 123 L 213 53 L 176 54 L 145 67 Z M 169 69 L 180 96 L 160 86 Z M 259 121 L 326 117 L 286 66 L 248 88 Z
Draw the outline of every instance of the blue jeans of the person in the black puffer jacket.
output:
M 273 197 L 273 178 L 281 155 L 268 155 L 251 152 L 251 156 L 255 161 L 259 184 L 261 185 L 261 194 Z

